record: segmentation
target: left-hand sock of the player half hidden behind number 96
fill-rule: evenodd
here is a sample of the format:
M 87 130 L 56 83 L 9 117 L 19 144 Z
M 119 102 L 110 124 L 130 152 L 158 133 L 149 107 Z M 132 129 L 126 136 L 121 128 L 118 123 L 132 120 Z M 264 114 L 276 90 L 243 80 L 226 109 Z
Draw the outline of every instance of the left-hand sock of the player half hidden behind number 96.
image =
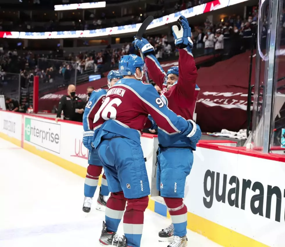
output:
M 84 196 L 93 197 L 98 185 L 98 179 L 102 172 L 102 167 L 88 165 L 84 183 Z

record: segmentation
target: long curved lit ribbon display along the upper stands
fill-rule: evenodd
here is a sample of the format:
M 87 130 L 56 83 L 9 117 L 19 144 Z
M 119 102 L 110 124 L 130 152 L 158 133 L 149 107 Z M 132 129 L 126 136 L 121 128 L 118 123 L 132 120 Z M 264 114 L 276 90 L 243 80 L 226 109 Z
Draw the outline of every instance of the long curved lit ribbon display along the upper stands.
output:
M 164 26 L 172 22 L 177 22 L 180 15 L 184 15 L 186 18 L 193 17 L 195 15 L 201 15 L 213 10 L 225 8 L 237 3 L 242 3 L 248 0 L 214 0 L 208 3 L 203 3 L 193 8 L 188 8 L 170 15 L 154 19 L 147 29 L 157 28 Z M 78 31 L 59 31 L 59 32 L 13 32 L 13 31 L 0 31 L 0 38 L 10 39 L 72 39 L 72 38 L 94 38 L 108 35 L 118 35 L 123 33 L 136 33 L 140 28 L 141 23 L 115 26 L 108 28 L 101 28 L 95 30 L 78 30 Z

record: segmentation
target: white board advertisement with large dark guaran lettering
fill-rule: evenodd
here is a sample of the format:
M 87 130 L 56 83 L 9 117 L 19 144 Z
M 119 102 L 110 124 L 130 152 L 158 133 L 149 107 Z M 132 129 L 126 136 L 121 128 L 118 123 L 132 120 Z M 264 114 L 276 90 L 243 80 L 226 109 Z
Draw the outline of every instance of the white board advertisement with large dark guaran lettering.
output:
M 184 202 L 204 219 L 284 247 L 284 177 L 282 162 L 197 147 Z

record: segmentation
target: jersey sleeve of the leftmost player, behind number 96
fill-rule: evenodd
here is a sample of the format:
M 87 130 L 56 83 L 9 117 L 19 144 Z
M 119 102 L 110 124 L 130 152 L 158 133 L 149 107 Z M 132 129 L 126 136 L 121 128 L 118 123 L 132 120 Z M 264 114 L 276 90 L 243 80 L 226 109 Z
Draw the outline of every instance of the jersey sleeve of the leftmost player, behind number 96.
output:
M 93 130 L 93 120 L 96 112 L 99 110 L 102 105 L 107 90 L 105 89 L 96 89 L 90 95 L 88 103 L 85 106 L 84 114 L 83 114 L 83 128 L 84 131 Z

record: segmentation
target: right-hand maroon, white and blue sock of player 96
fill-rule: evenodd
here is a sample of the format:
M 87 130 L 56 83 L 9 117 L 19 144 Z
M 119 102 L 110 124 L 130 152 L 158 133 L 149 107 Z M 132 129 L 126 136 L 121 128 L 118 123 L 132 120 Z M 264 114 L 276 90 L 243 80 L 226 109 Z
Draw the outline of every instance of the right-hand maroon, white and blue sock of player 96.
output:
M 124 213 L 124 235 L 127 246 L 140 247 L 143 234 L 144 212 L 148 205 L 148 196 L 138 199 L 128 199 Z

